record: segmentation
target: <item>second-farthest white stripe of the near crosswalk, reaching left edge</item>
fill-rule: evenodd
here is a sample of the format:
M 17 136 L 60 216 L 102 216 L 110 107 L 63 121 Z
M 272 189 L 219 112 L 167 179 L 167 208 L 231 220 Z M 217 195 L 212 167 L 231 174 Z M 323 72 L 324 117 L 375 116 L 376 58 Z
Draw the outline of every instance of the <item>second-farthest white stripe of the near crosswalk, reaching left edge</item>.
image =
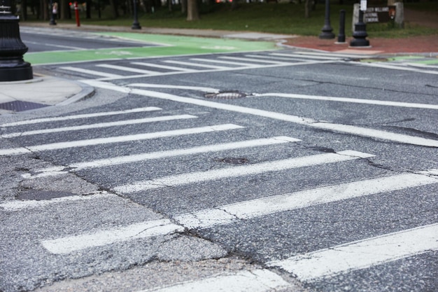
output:
M 122 125 L 155 123 L 155 122 L 164 122 L 164 121 L 168 121 L 168 120 L 181 120 L 181 119 L 188 119 L 188 118 L 197 118 L 197 116 L 191 116 L 191 115 L 159 116 L 159 117 L 152 117 L 152 118 L 139 118 L 136 120 L 119 120 L 117 122 L 97 123 L 97 124 L 80 125 L 80 126 L 73 126 L 73 127 L 56 127 L 56 128 L 44 129 L 44 130 L 34 130 L 34 131 L 27 131 L 27 132 L 15 132 L 15 133 L 10 133 L 10 134 L 4 134 L 4 135 L 1 135 L 0 138 L 12 138 L 12 137 L 29 136 L 29 135 L 36 135 L 36 134 L 51 134 L 51 133 L 69 132 L 69 131 L 78 131 L 78 130 L 99 129 L 99 128 L 103 128 L 103 127 L 117 127 L 117 126 L 122 126 Z

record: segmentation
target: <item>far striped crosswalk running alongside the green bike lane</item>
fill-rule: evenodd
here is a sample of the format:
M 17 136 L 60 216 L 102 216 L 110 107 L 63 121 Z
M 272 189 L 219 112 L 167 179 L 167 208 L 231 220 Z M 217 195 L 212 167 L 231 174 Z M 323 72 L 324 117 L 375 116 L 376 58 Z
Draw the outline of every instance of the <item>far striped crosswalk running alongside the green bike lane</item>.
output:
M 129 61 L 119 64 L 90 64 L 60 67 L 70 74 L 80 74 L 83 78 L 97 78 L 101 81 L 123 78 L 166 76 L 173 74 L 202 73 L 212 71 L 232 71 L 269 67 L 319 64 L 323 62 L 345 62 L 355 55 L 315 54 L 305 51 L 295 53 L 251 53 L 236 55 L 213 55 L 209 57 L 178 57 L 174 60 L 150 59 L 139 62 Z

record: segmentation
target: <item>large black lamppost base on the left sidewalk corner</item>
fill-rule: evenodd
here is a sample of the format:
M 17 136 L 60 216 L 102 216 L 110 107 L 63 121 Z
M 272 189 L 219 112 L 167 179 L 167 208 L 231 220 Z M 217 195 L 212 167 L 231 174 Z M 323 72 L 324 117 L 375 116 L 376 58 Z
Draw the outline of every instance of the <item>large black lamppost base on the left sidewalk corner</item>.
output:
M 0 82 L 32 79 L 32 67 L 23 60 L 28 48 L 20 39 L 17 16 L 10 13 L 11 1 L 0 4 Z

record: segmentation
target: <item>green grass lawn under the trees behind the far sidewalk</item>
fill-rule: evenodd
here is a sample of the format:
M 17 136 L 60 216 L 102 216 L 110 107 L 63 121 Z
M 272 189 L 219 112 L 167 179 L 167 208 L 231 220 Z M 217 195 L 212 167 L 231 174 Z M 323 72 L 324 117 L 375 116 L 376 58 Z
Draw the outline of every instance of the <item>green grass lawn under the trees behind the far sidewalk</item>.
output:
M 304 1 L 303 1 L 304 2 Z M 340 5 L 339 0 L 332 0 L 330 4 L 330 20 L 334 33 L 339 31 L 339 11 L 346 11 L 346 34 L 351 34 L 353 1 L 344 1 L 347 4 Z M 438 6 L 438 1 L 423 1 L 408 3 L 409 8 L 430 11 Z M 188 22 L 181 13 L 179 6 L 174 6 L 169 11 L 167 6 L 155 8 L 154 13 L 139 11 L 139 22 L 142 27 L 167 27 L 167 28 L 192 28 L 192 29 L 224 29 L 240 32 L 269 32 L 276 34 L 299 34 L 302 36 L 318 36 L 324 25 L 325 4 L 318 2 L 316 10 L 311 11 L 310 18 L 304 18 L 304 3 L 241 3 L 232 10 L 231 4 L 202 4 L 199 7 L 201 20 Z M 85 13 L 80 16 L 81 24 L 128 26 L 132 25 L 131 15 L 121 16 L 113 20 L 106 13 L 109 7 L 102 13 L 101 19 L 97 17 L 97 11 L 93 11 L 91 19 L 85 19 Z M 74 22 L 73 20 L 58 20 L 58 22 Z M 400 38 L 408 36 L 420 36 L 438 34 L 438 29 L 430 29 L 405 23 L 404 29 L 391 27 L 388 23 L 369 24 L 367 32 L 372 37 Z

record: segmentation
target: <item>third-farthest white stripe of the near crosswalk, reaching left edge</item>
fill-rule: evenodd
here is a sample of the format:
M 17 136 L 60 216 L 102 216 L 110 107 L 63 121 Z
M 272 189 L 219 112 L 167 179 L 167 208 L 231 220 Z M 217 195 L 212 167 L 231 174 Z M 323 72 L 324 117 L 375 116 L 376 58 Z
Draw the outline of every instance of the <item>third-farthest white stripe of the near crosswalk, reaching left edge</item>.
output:
M 123 142 L 127 142 L 127 141 L 140 141 L 140 140 L 146 140 L 146 139 L 173 137 L 173 136 L 188 135 L 188 134 L 200 134 L 200 133 L 234 130 L 234 129 L 241 129 L 241 128 L 243 128 L 243 127 L 241 127 L 239 125 L 233 125 L 233 124 L 211 125 L 211 126 L 206 126 L 206 127 L 192 127 L 192 128 L 188 128 L 188 129 L 169 130 L 169 131 L 164 131 L 164 132 L 153 132 L 153 133 L 132 134 L 132 135 L 126 135 L 126 136 L 115 136 L 115 137 L 98 138 L 98 139 L 67 141 L 67 142 L 59 142 L 59 143 L 52 143 L 52 144 L 27 146 L 26 148 L 0 149 L 0 155 L 17 155 L 17 154 L 38 152 L 38 151 L 48 151 L 48 150 L 57 150 L 57 149 L 83 147 L 83 146 L 93 146 L 93 145 L 101 145 L 101 144 L 123 143 Z

